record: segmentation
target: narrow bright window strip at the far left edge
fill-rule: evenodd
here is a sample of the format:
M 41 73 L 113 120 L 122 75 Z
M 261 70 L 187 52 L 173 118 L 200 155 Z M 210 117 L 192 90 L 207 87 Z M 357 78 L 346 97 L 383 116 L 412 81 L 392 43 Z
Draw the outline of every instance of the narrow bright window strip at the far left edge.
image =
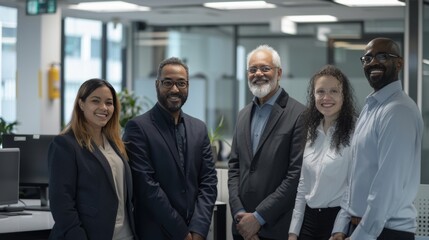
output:
M 0 6 L 0 116 L 16 120 L 17 10 Z

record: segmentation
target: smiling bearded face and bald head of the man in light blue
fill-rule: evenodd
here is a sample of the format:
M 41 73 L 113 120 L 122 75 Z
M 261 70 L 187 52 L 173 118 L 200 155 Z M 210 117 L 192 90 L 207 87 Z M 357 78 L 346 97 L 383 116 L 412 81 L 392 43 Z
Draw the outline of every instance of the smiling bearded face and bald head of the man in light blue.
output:
M 390 39 L 377 38 L 368 43 L 364 56 L 375 56 L 378 53 L 387 53 L 400 56 L 399 49 Z M 378 91 L 384 86 L 398 80 L 399 71 L 402 69 L 401 57 L 389 57 L 384 61 L 373 58 L 372 61 L 363 64 L 365 77 L 369 84 Z

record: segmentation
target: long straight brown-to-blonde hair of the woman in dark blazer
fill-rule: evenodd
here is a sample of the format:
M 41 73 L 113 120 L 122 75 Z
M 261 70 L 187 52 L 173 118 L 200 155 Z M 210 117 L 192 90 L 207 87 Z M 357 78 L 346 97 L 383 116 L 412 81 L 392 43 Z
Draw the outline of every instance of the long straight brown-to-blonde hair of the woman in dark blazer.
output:
M 121 112 L 121 103 L 119 102 L 115 89 L 106 80 L 93 78 L 82 83 L 73 104 L 71 120 L 60 134 L 66 134 L 70 131 L 73 131 L 75 138 L 81 147 L 86 147 L 91 152 L 94 151 L 94 147 L 91 143 L 92 136 L 87 129 L 85 116 L 79 107 L 79 100 L 85 101 L 92 92 L 103 86 L 106 86 L 110 89 L 110 92 L 113 96 L 113 106 L 115 110 L 113 111 L 112 118 L 107 122 L 106 126 L 104 126 L 101 131 L 108 140 L 112 141 L 116 145 L 119 152 L 126 159 L 128 159 L 125 145 L 122 142 L 120 134 L 121 126 L 119 124 L 119 113 Z

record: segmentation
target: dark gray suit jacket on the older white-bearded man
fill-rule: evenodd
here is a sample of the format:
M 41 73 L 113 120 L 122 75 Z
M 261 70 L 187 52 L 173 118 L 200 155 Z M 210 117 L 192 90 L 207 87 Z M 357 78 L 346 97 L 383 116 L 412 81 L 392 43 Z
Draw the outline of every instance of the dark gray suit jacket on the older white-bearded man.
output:
M 259 142 L 252 153 L 250 136 L 253 103 L 238 114 L 229 160 L 231 213 L 257 211 L 266 221 L 259 236 L 287 239 L 301 172 L 305 106 L 282 89 Z M 235 225 L 233 234 L 238 234 Z

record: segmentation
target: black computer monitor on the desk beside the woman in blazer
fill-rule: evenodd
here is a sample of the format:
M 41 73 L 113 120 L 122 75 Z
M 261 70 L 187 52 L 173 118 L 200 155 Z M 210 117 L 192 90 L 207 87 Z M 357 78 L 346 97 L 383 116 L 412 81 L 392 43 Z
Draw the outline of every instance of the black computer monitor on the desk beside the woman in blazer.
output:
M 48 206 L 48 148 L 55 135 L 3 134 L 4 148 L 20 149 L 21 190 L 37 187 L 40 193 L 40 206 L 26 206 L 27 210 L 49 211 Z

